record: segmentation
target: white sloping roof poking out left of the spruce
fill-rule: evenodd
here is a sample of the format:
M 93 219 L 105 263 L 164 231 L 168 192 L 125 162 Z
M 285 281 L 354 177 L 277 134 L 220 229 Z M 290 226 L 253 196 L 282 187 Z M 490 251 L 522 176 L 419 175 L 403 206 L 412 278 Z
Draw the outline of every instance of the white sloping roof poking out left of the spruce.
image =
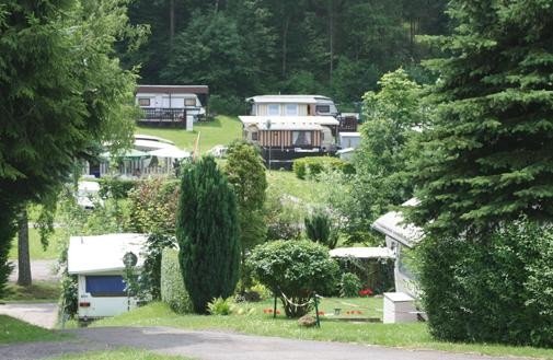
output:
M 412 198 L 402 206 L 416 206 L 418 200 Z M 413 247 L 423 237 L 423 229 L 412 223 L 404 223 L 401 211 L 390 211 L 372 223 L 372 229 L 388 235 L 407 247 Z

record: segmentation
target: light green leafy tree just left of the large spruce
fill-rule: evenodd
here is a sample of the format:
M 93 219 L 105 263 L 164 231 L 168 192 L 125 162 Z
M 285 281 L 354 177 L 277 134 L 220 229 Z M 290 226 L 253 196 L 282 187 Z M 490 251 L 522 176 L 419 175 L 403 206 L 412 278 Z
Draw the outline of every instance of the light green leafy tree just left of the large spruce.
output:
M 361 144 L 355 156 L 354 186 L 360 223 L 369 229 L 372 221 L 412 197 L 405 169 L 414 156 L 410 141 L 414 129 L 424 121 L 422 90 L 403 69 L 389 72 L 378 82 L 378 93 L 364 96 L 366 123 Z

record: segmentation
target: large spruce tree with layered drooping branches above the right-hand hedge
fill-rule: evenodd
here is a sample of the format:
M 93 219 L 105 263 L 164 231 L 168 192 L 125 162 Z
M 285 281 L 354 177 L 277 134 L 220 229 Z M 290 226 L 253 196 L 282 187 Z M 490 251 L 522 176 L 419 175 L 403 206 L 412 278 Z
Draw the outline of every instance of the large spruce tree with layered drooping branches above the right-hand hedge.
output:
M 413 172 L 427 233 L 553 218 L 553 0 L 451 1 L 457 27 Z

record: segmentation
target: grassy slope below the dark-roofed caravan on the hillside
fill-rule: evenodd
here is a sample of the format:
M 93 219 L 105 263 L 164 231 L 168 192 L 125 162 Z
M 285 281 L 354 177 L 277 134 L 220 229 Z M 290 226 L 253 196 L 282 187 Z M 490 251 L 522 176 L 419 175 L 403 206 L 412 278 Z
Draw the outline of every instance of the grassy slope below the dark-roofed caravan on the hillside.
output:
M 229 144 L 242 138 L 242 124 L 237 117 L 219 115 L 212 121 L 194 124 L 194 131 L 184 129 L 137 126 L 135 133 L 151 135 L 173 141 L 178 148 L 192 151 L 199 136 L 199 151 L 205 153 L 217 144 Z

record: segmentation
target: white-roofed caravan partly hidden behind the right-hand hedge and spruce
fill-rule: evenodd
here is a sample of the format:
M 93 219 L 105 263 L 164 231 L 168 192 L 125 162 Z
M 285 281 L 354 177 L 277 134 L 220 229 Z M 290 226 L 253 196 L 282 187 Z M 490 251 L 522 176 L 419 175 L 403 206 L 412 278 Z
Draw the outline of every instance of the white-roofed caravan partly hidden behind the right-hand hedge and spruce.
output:
M 413 198 L 402 206 L 416 206 Z M 400 211 L 390 211 L 378 218 L 372 228 L 385 235 L 385 245 L 395 253 L 394 282 L 395 291 L 418 298 L 418 287 L 413 271 L 413 247 L 422 239 L 423 230 L 414 224 L 404 223 Z

